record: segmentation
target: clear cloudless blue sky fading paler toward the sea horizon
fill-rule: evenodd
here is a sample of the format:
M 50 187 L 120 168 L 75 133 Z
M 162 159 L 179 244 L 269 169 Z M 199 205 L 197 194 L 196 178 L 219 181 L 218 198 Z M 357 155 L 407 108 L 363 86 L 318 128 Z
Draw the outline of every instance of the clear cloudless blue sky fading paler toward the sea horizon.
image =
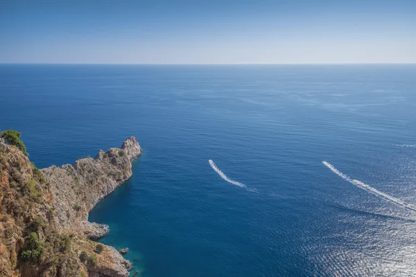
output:
M 416 62 L 416 0 L 0 0 L 0 63 Z

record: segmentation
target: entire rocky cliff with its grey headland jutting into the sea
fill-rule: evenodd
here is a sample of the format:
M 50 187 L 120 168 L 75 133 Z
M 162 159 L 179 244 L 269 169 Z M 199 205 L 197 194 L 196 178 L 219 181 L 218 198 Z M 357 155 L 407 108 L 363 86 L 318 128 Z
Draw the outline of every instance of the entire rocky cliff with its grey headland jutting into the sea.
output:
M 87 219 L 98 201 L 131 177 L 131 162 L 140 154 L 130 137 L 94 159 L 38 170 L 0 141 L 0 276 L 128 276 L 130 263 L 116 249 L 96 251 L 98 243 L 88 239 L 108 227 Z

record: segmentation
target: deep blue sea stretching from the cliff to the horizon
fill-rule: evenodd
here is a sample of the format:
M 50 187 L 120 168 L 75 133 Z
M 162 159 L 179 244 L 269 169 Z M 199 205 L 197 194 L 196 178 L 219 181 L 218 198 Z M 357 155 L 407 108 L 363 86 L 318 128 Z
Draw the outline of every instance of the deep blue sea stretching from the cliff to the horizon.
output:
M 132 178 L 90 214 L 110 225 L 103 243 L 130 249 L 132 276 L 416 276 L 415 76 L 3 64 L 0 128 L 40 168 L 139 139 Z

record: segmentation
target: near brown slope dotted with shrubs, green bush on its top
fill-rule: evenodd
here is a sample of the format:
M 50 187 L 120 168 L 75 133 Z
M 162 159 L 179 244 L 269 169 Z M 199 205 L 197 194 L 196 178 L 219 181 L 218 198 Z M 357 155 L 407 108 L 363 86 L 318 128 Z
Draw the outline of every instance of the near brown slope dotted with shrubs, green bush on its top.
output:
M 2 136 L 8 145 L 0 143 L 0 276 L 77 276 L 78 256 L 55 226 L 49 184 L 16 140 L 20 133 Z

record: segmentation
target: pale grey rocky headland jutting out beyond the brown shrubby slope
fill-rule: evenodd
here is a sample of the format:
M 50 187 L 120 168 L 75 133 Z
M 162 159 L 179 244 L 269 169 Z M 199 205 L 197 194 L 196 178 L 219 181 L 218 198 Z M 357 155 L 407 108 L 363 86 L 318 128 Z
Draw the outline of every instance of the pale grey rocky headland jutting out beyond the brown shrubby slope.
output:
M 98 201 L 132 176 L 131 162 L 140 154 L 137 139 L 130 137 L 121 148 L 100 150 L 95 159 L 87 157 L 78 159 L 72 166 L 43 169 L 55 199 L 56 224 L 64 229 L 82 231 L 92 239 L 105 235 L 108 226 L 89 223 L 88 213 Z

